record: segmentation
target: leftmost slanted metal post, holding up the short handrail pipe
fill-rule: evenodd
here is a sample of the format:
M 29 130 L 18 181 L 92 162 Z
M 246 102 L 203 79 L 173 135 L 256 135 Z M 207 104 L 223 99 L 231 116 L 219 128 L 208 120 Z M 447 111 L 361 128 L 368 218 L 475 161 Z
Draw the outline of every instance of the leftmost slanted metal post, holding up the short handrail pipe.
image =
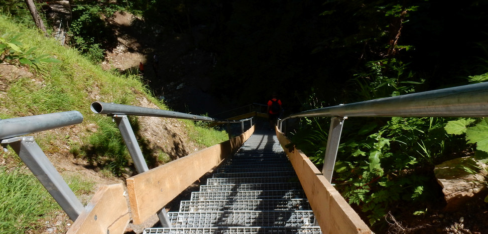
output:
M 49 161 L 34 137 L 13 137 L 3 140 L 2 144 L 8 144 L 14 149 L 69 218 L 75 221 L 84 209 L 83 204 Z

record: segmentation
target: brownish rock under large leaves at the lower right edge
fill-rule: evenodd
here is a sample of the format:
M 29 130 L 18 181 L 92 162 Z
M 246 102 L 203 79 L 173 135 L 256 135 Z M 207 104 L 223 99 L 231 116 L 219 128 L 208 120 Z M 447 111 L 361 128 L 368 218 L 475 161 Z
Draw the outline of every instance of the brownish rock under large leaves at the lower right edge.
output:
M 447 211 L 459 208 L 487 188 L 486 165 L 472 157 L 443 162 L 435 167 L 434 173 L 442 186 Z

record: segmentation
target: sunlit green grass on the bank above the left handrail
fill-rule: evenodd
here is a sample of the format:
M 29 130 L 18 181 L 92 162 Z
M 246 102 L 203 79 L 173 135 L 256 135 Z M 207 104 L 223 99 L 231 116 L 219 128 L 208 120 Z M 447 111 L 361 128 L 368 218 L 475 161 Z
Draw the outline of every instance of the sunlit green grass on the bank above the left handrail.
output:
M 42 77 L 36 82 L 20 79 L 11 84 L 8 95 L 0 97 L 0 101 L 5 106 L 16 107 L 15 110 L 9 108 L 12 116 L 78 110 L 85 119 L 93 121 L 96 117 L 89 109 L 93 101 L 132 104 L 138 94 L 148 94 L 138 76 L 119 76 L 103 71 L 76 50 L 60 46 L 37 30 L 0 16 L 0 35 L 6 33 L 9 35 L 7 41 L 17 35 L 25 50 L 36 47 L 36 55 L 49 55 L 61 61 L 31 66 L 29 70 Z

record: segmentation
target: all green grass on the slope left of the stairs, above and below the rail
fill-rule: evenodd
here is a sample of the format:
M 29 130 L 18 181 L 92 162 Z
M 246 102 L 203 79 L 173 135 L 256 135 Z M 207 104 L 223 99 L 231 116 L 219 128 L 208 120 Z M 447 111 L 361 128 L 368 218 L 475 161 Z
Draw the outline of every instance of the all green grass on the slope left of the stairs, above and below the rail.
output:
M 6 94 L 0 95 L 0 118 L 77 110 L 84 118 L 79 125 L 84 130 L 77 132 L 81 140 L 71 141 L 69 136 L 56 135 L 55 131 L 38 133 L 35 136 L 41 149 L 56 153 L 59 147 L 64 147 L 60 142 L 64 142 L 73 156 L 86 159 L 98 167 L 101 174 L 120 175 L 132 161 L 127 147 L 111 118 L 92 113 L 90 104 L 102 101 L 138 105 L 137 98 L 144 97 L 160 109 L 168 108 L 150 94 L 137 75 L 121 76 L 113 71 L 103 71 L 76 50 L 44 37 L 32 24 L 0 13 L 0 36 L 5 34 L 10 37 L 7 40 L 17 35 L 23 50 L 36 47 L 36 55 L 49 55 L 61 62 L 21 67 L 33 73 L 34 78 L 20 78 L 7 84 L 10 88 Z M 185 125 L 190 137 L 198 144 L 211 146 L 227 139 L 225 132 L 195 126 L 192 121 L 186 121 Z M 159 161 L 171 161 L 164 152 L 155 153 Z M 0 157 L 9 159 L 9 168 L 24 167 L 12 150 Z M 93 192 L 95 182 L 73 175 L 66 181 L 77 195 Z M 56 212 L 63 211 L 32 173 L 0 167 L 0 233 L 37 232 Z

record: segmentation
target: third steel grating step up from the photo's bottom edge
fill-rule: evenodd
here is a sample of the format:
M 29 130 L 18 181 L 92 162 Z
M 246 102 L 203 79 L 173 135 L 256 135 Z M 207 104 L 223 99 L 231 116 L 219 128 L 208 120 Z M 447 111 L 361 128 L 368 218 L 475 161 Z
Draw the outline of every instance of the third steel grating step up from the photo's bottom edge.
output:
M 307 199 L 181 201 L 180 212 L 224 210 L 311 210 Z

